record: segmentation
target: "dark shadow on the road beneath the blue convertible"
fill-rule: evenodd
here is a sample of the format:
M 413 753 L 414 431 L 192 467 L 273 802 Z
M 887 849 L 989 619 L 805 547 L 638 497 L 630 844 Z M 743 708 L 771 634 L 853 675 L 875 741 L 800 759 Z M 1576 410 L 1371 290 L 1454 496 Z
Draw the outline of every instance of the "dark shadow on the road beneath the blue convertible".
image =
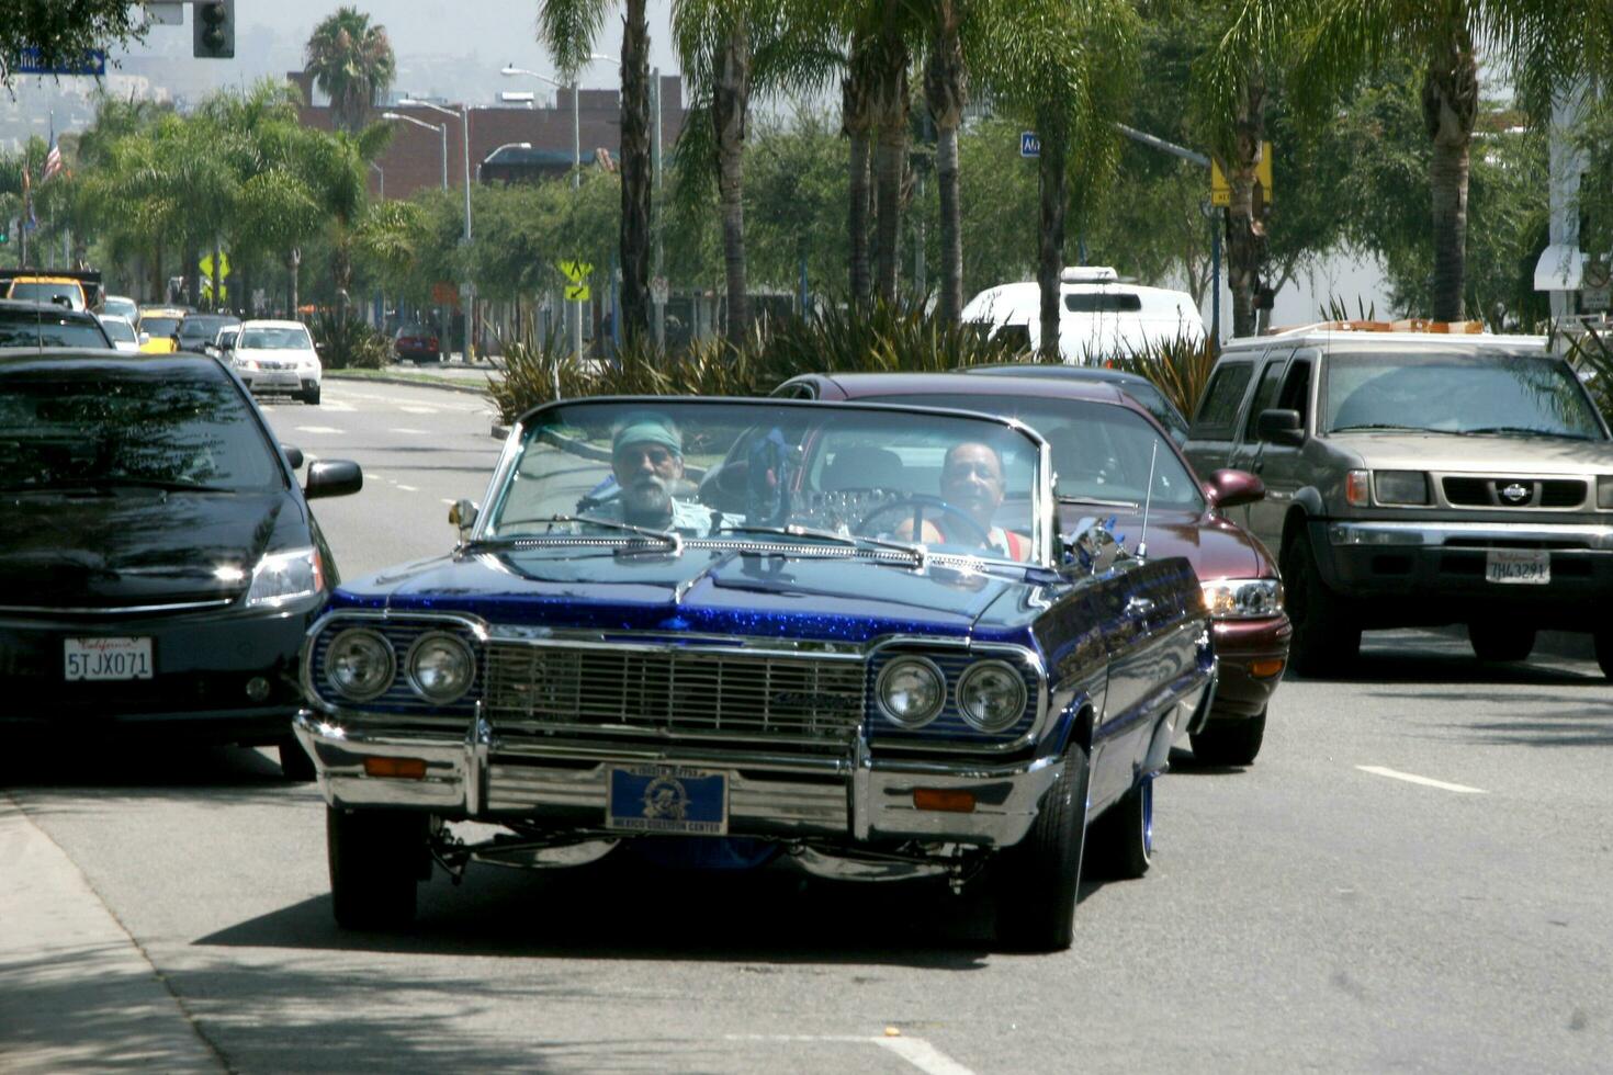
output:
M 1103 886 L 1084 882 L 1081 899 Z M 239 922 L 198 946 L 979 970 L 995 951 L 995 896 L 944 882 L 857 883 L 789 867 L 681 870 L 619 856 L 569 870 L 473 864 L 437 870 L 408 930 L 347 932 L 316 896 Z M 1076 915 L 1079 933 L 1081 915 Z

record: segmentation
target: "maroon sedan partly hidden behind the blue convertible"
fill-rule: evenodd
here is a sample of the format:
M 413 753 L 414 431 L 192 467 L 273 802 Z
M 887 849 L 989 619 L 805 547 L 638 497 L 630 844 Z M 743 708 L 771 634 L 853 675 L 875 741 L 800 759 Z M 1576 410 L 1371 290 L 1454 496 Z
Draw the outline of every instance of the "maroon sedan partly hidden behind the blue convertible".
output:
M 1186 556 L 1194 564 L 1215 616 L 1221 658 L 1215 708 L 1210 722 L 1192 735 L 1194 754 L 1226 766 L 1255 761 L 1292 633 L 1276 558 L 1223 516 L 1227 508 L 1265 496 L 1258 477 L 1216 471 L 1200 482 L 1148 411 L 1107 384 L 968 374 L 802 374 L 773 395 L 1011 414 L 1042 434 L 1053 450 L 1065 533 L 1081 533 L 1113 516 L 1113 529 L 1129 548 L 1147 542 L 1155 556 Z

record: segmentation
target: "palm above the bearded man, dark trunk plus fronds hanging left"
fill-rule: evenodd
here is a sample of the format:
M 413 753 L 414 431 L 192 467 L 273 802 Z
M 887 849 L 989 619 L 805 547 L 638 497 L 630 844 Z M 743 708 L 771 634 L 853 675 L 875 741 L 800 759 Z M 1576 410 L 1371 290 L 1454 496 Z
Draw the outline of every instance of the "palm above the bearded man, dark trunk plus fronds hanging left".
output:
M 540 0 L 537 37 L 571 81 L 589 61 L 608 0 Z M 621 35 L 621 327 L 650 326 L 650 23 L 645 0 L 626 0 Z

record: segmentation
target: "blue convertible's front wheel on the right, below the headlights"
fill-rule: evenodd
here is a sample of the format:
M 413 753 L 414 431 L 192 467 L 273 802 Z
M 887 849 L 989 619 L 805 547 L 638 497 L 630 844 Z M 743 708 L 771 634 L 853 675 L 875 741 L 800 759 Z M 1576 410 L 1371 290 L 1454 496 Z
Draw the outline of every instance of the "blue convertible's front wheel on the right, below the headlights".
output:
M 1058 953 L 1074 940 L 1089 761 L 1084 749 L 1069 748 L 1065 772 L 1042 796 L 1031 832 L 994 864 L 997 943 L 1008 951 Z

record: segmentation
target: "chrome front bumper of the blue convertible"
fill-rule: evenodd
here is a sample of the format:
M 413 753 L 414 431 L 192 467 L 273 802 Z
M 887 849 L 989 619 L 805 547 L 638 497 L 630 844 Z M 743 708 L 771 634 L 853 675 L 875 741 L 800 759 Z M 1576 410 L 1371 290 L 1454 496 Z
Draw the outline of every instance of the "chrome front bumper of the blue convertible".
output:
M 890 761 L 858 743 L 852 756 L 794 756 L 597 741 L 502 740 L 484 720 L 463 733 L 336 724 L 311 711 L 294 720 L 313 756 L 319 790 L 337 807 L 415 807 L 448 819 L 576 811 L 605 825 L 610 766 L 677 764 L 729 774 L 736 836 L 932 840 L 1011 846 L 1024 838 L 1042 795 L 1065 762 Z M 423 778 L 369 777 L 368 757 L 426 762 Z M 971 791 L 973 812 L 921 811 L 918 788 Z M 624 833 L 631 835 L 631 833 Z

